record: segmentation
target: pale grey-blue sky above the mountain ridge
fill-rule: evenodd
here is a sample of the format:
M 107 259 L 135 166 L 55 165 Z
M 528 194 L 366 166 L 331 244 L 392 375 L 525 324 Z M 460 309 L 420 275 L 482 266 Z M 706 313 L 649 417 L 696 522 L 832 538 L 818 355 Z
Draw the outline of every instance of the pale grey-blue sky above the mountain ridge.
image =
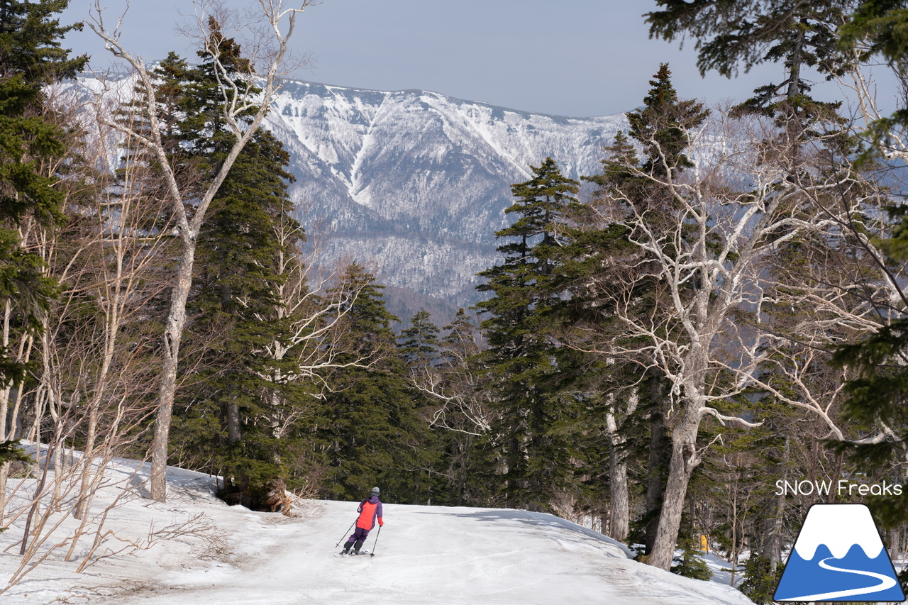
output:
M 253 6 L 256 0 L 227 0 Z M 82 20 L 94 0 L 70 0 L 63 23 Z M 125 0 L 102 0 L 115 21 Z M 647 81 L 669 62 L 683 98 L 744 100 L 779 82 L 778 65 L 728 80 L 701 78 L 693 45 L 650 40 L 644 17 L 653 0 L 322 0 L 300 16 L 293 48 L 311 53 L 297 79 L 376 90 L 421 88 L 471 101 L 571 116 L 616 114 L 641 104 Z M 168 51 L 192 56 L 176 31 L 192 0 L 132 0 L 123 45 L 146 61 Z M 181 16 L 183 15 L 183 16 Z M 95 68 L 114 61 L 87 28 L 68 36 Z M 115 62 L 113 63 L 115 64 Z M 836 95 L 829 84 L 820 98 Z

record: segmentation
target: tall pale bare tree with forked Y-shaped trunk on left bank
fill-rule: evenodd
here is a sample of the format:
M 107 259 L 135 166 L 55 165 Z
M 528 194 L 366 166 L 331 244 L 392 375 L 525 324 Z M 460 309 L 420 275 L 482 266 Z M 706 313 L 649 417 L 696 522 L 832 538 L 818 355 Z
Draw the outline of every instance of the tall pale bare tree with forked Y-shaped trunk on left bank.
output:
M 296 25 L 296 17 L 310 4 L 311 0 L 301 0 L 299 8 L 287 8 L 281 0 L 259 0 L 265 27 L 271 36 L 271 44 L 266 44 L 262 38 L 259 38 L 260 45 L 254 45 L 258 55 L 253 56 L 249 62 L 250 73 L 248 74 L 229 73 L 219 56 L 220 41 L 212 39 L 212 36 L 204 35 L 204 52 L 211 57 L 215 65 L 218 85 L 222 93 L 222 118 L 224 124 L 227 124 L 232 131 L 235 141 L 212 182 L 189 207 L 186 203 L 188 192 L 181 187 L 171 164 L 168 150 L 163 143 L 162 124 L 159 118 L 153 75 L 141 57 L 131 55 L 121 44 L 119 25 L 122 18 L 113 29 L 109 28 L 104 24 L 104 9 L 100 0 L 97 0 L 94 5 L 94 15 L 87 23 L 94 33 L 104 40 L 106 48 L 133 69 L 143 94 L 142 103 L 147 120 L 147 131 L 143 134 L 133 133 L 133 135 L 141 138 L 148 153 L 152 154 L 160 165 L 163 179 L 167 185 L 175 227 L 179 234 L 180 259 L 173 283 L 170 312 L 168 312 L 164 329 L 163 370 L 152 444 L 151 497 L 156 501 L 164 501 L 166 498 L 167 442 L 173 417 L 180 342 L 186 324 L 186 302 L 192 285 L 196 240 L 214 195 L 218 192 L 242 148 L 252 139 L 252 135 L 262 124 L 262 118 L 268 111 L 271 99 L 279 87 L 278 77 L 281 73 L 281 64 L 288 52 L 288 42 Z M 209 7 L 208 4 L 196 5 L 200 29 L 203 32 L 206 23 L 203 15 Z M 255 92 L 258 85 L 261 85 L 260 94 Z M 252 111 L 255 113 L 247 123 L 243 116 Z

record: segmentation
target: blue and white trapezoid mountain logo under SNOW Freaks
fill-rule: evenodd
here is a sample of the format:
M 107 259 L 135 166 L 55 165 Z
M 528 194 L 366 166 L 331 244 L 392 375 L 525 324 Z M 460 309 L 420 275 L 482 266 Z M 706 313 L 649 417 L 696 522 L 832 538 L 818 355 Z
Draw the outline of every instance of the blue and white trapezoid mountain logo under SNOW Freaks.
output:
M 864 504 L 814 504 L 773 600 L 903 602 L 893 562 Z

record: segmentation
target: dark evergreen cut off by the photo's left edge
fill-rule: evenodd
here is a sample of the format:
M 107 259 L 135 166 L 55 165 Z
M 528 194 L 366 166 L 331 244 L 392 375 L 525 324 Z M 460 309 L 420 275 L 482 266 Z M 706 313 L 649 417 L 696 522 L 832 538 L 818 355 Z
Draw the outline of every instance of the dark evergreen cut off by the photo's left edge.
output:
M 45 106 L 43 87 L 73 77 L 88 61 L 87 55 L 70 58 L 60 46 L 67 32 L 81 27 L 54 18 L 66 5 L 68 0 L 0 0 L 0 306 L 15 318 L 6 328 L 19 332 L 37 331 L 54 296 L 44 260 L 25 250 L 20 233 L 35 223 L 53 228 L 62 219 L 60 177 L 47 166 L 64 158 L 71 144 Z M 0 349 L 3 386 L 21 380 L 25 369 L 15 354 Z M 0 445 L 8 448 L 5 401 L 0 410 Z

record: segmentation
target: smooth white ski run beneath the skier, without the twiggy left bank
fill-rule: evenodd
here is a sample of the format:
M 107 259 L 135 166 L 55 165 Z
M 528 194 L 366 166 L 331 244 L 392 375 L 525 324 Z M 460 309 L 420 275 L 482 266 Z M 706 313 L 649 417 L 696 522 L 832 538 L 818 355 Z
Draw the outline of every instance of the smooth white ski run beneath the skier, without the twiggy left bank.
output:
M 271 605 L 339 599 L 402 605 L 748 602 L 730 589 L 680 579 L 627 560 L 623 550 L 595 532 L 525 511 L 386 504 L 386 524 L 378 542 L 375 530 L 364 545 L 375 556 L 339 559 L 332 556 L 341 547 L 333 547 L 338 536 L 331 532 L 337 533 L 355 517 L 356 504 L 321 501 L 312 505 L 321 508 L 317 522 L 287 521 L 257 528 L 253 524 L 254 530 L 277 540 L 252 558 L 244 557 L 243 568 L 248 569 L 226 570 L 215 578 L 208 575 L 210 570 L 183 572 L 165 580 L 163 594 L 137 594 L 131 601 L 144 605 L 240 599 Z M 254 513 L 250 517 L 252 521 Z M 708 600 L 703 593 L 713 589 L 739 598 Z

